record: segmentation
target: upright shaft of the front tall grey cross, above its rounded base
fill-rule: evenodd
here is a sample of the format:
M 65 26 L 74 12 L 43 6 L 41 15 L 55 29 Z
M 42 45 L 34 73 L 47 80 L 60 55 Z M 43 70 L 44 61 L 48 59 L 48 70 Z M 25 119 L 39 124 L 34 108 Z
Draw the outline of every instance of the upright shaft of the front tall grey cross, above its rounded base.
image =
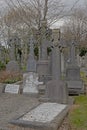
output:
M 58 43 L 59 30 L 52 30 L 52 35 L 54 39 L 54 46 L 52 50 L 52 77 L 53 79 L 60 79 L 61 77 L 61 52 Z

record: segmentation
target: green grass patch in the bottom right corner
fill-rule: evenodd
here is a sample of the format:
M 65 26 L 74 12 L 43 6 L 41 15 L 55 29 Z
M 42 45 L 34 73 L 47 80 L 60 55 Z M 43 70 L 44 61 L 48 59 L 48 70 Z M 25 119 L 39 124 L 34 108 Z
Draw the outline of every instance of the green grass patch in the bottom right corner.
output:
M 69 114 L 69 121 L 75 130 L 87 130 L 87 96 L 75 97 L 75 108 Z

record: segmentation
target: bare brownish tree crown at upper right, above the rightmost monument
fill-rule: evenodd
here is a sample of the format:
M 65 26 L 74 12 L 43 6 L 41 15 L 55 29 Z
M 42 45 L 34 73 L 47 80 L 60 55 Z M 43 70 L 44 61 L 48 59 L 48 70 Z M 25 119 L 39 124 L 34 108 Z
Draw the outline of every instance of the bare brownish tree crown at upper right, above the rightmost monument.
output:
M 87 32 L 86 19 L 85 9 L 75 9 L 63 26 L 64 39 L 68 41 L 75 40 L 79 44 L 82 43 Z

